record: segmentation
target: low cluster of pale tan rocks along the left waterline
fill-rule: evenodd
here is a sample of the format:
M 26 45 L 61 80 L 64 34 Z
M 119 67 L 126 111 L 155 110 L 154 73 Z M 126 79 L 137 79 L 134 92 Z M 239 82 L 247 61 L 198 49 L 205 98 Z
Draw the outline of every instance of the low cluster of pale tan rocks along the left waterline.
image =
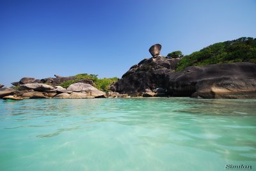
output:
M 20 85 L 19 89 L 1 88 L 0 98 L 4 100 L 23 100 L 36 98 L 115 98 L 127 97 L 127 94 L 104 93 L 90 84 L 77 82 L 71 84 L 67 89 L 61 86 L 52 87 L 41 83 L 29 83 Z

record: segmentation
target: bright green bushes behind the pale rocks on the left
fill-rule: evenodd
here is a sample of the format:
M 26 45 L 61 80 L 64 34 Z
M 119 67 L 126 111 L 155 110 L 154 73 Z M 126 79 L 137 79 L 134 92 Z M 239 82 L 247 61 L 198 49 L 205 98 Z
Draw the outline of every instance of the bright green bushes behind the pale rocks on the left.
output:
M 87 73 L 81 73 L 81 74 L 77 74 L 74 77 L 76 77 L 74 80 L 68 80 L 66 82 L 63 82 L 61 85 L 61 87 L 63 88 L 67 88 L 69 85 L 74 84 L 75 82 L 81 80 L 81 79 L 90 79 L 93 80 L 94 87 L 96 87 L 97 89 L 100 89 L 102 91 L 110 91 L 109 90 L 109 85 L 113 84 L 114 82 L 116 82 L 118 80 L 117 77 L 113 77 L 113 78 L 98 78 L 98 75 L 93 75 L 93 74 L 87 74 Z

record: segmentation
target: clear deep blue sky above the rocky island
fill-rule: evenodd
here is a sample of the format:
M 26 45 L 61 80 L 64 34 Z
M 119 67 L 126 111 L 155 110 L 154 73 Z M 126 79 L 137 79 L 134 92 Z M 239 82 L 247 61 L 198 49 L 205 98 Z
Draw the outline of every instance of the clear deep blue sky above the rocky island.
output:
M 22 77 L 122 77 L 150 57 L 256 37 L 256 1 L 0 0 L 0 84 Z

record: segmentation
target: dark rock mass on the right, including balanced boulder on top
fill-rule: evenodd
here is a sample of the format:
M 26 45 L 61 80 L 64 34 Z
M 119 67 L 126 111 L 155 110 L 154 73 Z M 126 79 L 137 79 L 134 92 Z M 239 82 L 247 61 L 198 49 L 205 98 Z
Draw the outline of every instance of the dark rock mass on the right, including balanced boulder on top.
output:
M 157 47 L 150 47 L 152 57 L 132 66 L 112 90 L 145 97 L 256 98 L 256 64 L 190 66 L 175 72 L 181 58 L 159 56 L 161 47 Z

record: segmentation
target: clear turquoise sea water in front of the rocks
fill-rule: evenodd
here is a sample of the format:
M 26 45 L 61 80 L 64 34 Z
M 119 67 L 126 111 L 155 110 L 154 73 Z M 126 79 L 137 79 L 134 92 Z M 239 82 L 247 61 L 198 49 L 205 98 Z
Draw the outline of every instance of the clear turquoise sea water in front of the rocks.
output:
M 256 100 L 0 100 L 0 170 L 256 169 Z

